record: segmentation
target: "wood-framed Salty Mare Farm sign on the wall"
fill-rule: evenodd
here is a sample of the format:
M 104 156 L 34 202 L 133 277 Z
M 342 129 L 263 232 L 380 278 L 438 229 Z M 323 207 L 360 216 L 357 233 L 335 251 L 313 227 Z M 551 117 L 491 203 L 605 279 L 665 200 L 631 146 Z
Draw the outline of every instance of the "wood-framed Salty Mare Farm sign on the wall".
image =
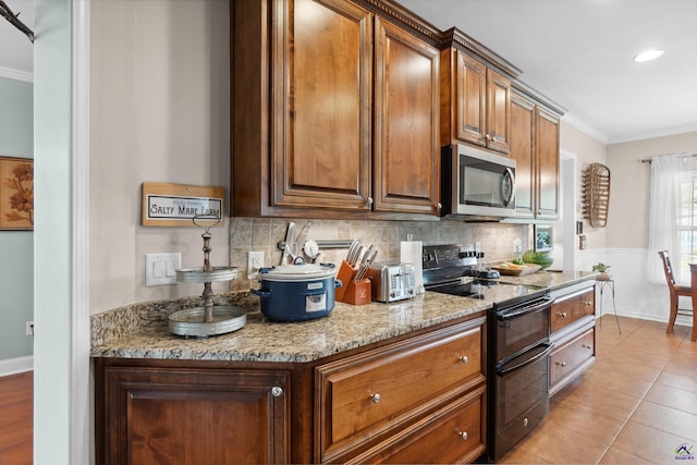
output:
M 223 187 L 143 183 L 143 225 L 191 227 L 194 217 L 221 219 L 223 195 Z

